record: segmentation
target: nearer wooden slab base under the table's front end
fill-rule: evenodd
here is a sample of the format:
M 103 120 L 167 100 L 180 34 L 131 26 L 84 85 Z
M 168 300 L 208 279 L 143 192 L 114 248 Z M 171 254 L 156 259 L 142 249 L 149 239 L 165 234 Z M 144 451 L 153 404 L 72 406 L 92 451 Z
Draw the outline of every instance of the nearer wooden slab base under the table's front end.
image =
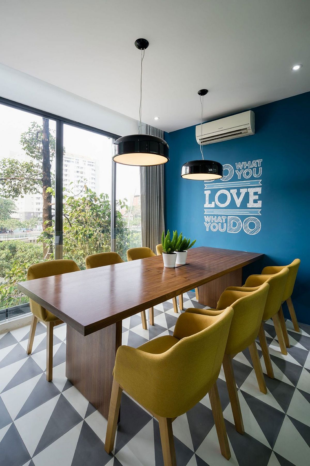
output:
M 121 322 L 88 336 L 67 325 L 66 377 L 108 419 Z

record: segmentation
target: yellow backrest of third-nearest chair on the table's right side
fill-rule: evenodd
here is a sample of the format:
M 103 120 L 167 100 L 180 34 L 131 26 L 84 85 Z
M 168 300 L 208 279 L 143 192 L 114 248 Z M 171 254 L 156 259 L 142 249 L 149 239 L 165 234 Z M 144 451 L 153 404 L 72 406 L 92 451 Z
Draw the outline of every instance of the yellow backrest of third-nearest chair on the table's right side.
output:
M 273 275 L 250 275 L 244 287 L 257 287 L 263 283 L 269 284 L 268 296 L 263 313 L 263 321 L 273 317 L 279 310 L 283 301 L 284 288 L 289 276 L 289 269 L 284 267 L 280 272 Z

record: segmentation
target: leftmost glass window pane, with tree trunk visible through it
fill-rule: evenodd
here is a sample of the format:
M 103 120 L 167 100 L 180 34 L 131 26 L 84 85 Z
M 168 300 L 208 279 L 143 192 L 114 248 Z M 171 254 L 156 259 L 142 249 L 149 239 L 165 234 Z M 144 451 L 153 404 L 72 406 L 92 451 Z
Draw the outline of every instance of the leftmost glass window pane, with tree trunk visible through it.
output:
M 15 283 L 53 257 L 55 121 L 0 105 L 0 320 L 29 312 Z

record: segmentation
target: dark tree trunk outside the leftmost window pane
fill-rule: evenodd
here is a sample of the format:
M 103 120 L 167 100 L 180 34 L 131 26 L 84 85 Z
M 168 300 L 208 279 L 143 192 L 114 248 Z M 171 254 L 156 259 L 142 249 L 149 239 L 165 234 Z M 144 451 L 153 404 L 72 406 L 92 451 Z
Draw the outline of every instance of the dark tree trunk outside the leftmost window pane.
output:
M 43 197 L 43 231 L 52 226 L 52 194 L 47 192 L 47 188 L 51 187 L 51 161 L 49 152 L 49 120 L 42 118 L 42 197 Z M 49 235 L 53 240 L 53 235 Z M 52 246 L 49 247 L 47 243 L 43 244 L 44 257 L 48 252 L 52 251 Z

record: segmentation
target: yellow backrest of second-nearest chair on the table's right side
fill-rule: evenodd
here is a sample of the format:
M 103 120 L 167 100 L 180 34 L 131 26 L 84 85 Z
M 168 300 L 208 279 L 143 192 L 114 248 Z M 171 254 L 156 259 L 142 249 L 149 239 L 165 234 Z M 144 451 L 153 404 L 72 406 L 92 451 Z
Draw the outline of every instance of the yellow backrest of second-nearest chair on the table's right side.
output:
M 254 342 L 262 322 L 269 291 L 263 283 L 254 291 L 225 290 L 217 303 L 217 309 L 231 306 L 234 309 L 225 353 L 235 355 Z

